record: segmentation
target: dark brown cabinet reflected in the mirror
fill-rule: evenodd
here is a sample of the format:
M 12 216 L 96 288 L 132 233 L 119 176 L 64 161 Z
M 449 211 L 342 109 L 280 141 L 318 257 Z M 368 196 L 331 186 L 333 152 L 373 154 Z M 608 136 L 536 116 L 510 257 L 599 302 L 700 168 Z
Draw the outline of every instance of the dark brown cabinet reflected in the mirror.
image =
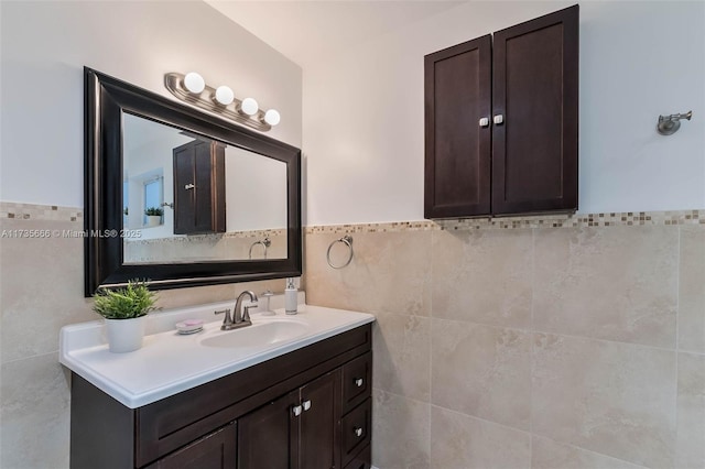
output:
M 225 232 L 225 145 L 195 140 L 174 153 L 174 234 Z

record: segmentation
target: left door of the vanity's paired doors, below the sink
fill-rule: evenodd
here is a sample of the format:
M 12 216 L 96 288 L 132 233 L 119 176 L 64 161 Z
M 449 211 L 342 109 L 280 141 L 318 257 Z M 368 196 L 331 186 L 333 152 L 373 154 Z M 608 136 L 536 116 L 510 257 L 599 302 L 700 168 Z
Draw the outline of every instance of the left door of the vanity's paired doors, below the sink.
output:
M 296 467 L 299 417 L 292 407 L 297 403 L 295 391 L 238 419 L 239 469 Z

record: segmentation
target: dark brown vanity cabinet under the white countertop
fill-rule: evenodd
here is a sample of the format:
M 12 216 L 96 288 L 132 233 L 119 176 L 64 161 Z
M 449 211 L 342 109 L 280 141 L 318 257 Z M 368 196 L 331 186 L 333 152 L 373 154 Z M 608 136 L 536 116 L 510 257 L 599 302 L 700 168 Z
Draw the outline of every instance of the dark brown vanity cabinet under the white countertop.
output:
M 138 408 L 72 373 L 70 467 L 369 469 L 371 326 Z

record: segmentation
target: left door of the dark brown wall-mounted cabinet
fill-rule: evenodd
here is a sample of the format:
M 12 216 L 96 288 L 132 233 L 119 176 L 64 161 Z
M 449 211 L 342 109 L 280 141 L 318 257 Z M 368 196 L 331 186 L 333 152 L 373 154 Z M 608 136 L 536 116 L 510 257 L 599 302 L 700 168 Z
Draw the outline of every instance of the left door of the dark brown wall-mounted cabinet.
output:
M 489 35 L 425 56 L 426 218 L 489 214 L 490 62 Z

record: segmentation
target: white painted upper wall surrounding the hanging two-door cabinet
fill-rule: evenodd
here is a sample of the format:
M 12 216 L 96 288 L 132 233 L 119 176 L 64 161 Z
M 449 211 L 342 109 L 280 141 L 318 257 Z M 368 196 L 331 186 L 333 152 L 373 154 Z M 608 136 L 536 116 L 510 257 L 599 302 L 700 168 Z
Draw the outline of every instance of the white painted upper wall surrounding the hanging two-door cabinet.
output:
M 572 3 L 469 2 L 307 67 L 304 223 L 423 219 L 423 56 Z M 579 106 L 581 212 L 705 208 L 705 2 L 581 3 Z

